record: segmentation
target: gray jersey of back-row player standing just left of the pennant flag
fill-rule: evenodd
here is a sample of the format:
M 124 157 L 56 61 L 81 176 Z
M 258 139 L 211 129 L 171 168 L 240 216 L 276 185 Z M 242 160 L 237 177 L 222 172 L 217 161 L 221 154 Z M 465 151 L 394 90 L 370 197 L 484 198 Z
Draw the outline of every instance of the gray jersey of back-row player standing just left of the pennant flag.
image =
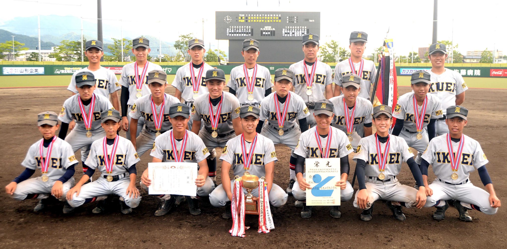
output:
M 342 60 L 338 62 L 335 66 L 335 79 L 333 82 L 338 86 L 342 86 L 342 76 L 354 73 L 361 77 L 361 90 L 359 91 L 359 97 L 366 98 L 370 100 L 370 88 L 375 82 L 375 77 L 377 76 L 377 68 L 375 67 L 375 62 L 372 60 L 363 59 L 363 72 L 358 72 L 361 67 L 361 62 L 353 63 L 356 72 L 352 72 L 353 69 L 350 68 L 349 60 Z M 341 93 L 343 95 L 343 93 Z

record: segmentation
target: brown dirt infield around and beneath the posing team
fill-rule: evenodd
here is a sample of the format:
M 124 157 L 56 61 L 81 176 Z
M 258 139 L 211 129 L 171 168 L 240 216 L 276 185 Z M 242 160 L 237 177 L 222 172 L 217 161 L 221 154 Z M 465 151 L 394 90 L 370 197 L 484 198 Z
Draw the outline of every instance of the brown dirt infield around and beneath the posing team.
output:
M 400 94 L 409 91 L 401 87 Z M 173 93 L 173 88 L 168 87 Z M 487 216 L 470 211 L 473 222 L 458 220 L 454 208 L 447 210 L 447 218 L 434 221 L 431 214 L 434 208 L 419 210 L 404 209 L 407 221 L 399 222 L 391 217 L 390 210 L 377 202 L 374 217 L 370 222 L 359 220 L 359 210 L 351 201 L 342 204 L 342 218 L 334 219 L 327 207 L 316 207 L 309 219 L 300 218 L 300 208 L 294 206 L 294 198 L 289 195 L 285 206 L 274 209 L 276 229 L 268 234 L 257 233 L 256 217 L 247 216 L 247 224 L 252 228 L 246 231 L 245 238 L 231 237 L 227 232 L 230 220 L 223 220 L 224 208 L 212 207 L 203 198 L 201 216 L 192 216 L 186 204 L 175 207 L 162 217 L 153 216 L 158 199 L 142 195 L 140 205 L 131 215 L 119 211 L 94 215 L 94 203 L 76 208 L 73 214 L 63 215 L 62 204 L 50 205 L 46 211 L 34 213 L 36 200 L 16 201 L 5 194 L 4 186 L 22 170 L 20 165 L 30 145 L 40 139 L 35 115 L 50 110 L 59 112 L 63 101 L 70 95 L 65 88 L 0 89 L 0 101 L 4 112 L 0 114 L 4 140 L 0 145 L 2 154 L 2 174 L 0 174 L 0 247 L 136 247 L 136 248 L 210 248 L 230 247 L 249 248 L 251 246 L 292 248 L 463 248 L 480 246 L 482 248 L 505 248 L 504 206 L 495 216 Z M 507 90 L 470 89 L 466 91 L 464 106 L 469 108 L 469 123 L 465 133 L 477 139 L 490 163 L 488 171 L 496 187 L 497 195 L 507 201 L 503 165 L 507 124 Z M 121 133 L 123 136 L 124 132 Z M 275 168 L 275 183 L 285 188 L 288 183 L 288 160 L 290 150 L 276 146 L 279 161 Z M 217 150 L 219 153 L 221 150 Z M 78 158 L 79 152 L 77 153 Z M 140 174 L 151 157 L 146 153 L 138 163 Z M 349 181 L 352 180 L 354 163 L 351 163 Z M 80 177 L 80 170 L 76 176 Z M 431 171 L 431 170 L 430 170 Z M 39 175 L 40 172 L 35 173 Z M 220 163 L 218 165 L 220 175 Z M 220 176 L 218 177 L 220 183 Z M 470 177 L 476 186 L 481 181 L 476 172 Z M 137 177 L 138 181 L 140 176 Z M 404 164 L 399 176 L 400 182 L 412 186 L 414 180 Z M 430 172 L 429 179 L 433 179 Z M 357 189 L 357 184 L 355 186 Z

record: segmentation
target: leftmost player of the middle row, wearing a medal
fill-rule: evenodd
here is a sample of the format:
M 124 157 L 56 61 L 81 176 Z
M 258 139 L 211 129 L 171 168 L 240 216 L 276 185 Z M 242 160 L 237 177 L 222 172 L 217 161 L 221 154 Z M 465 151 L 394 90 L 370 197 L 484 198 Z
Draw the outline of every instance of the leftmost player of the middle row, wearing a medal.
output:
M 58 137 L 65 139 L 74 152 L 84 148 L 81 150 L 81 161 L 83 172 L 86 172 L 88 166 L 85 162 L 93 141 L 105 136 L 104 130 L 100 128 L 100 113 L 113 108 L 113 105 L 106 97 L 93 93 L 97 86 L 91 72 L 76 74 L 75 80 L 78 94 L 63 102 L 58 116 L 62 122 Z M 73 120 L 77 121 L 76 127 L 67 135 L 68 125 Z

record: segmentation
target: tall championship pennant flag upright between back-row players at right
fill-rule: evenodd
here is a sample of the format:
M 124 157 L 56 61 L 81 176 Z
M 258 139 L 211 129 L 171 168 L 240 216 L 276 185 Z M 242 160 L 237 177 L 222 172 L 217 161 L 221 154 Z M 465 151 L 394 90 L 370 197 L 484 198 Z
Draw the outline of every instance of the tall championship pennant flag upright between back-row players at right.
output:
M 377 83 L 377 89 L 375 91 L 375 101 L 373 106 L 379 104 L 385 104 L 394 107 L 398 102 L 398 84 L 396 81 L 396 67 L 394 66 L 394 52 L 392 39 L 385 40 L 385 46 L 383 47 L 382 59 L 380 62 L 380 74 Z M 392 118 L 392 127 L 396 123 L 396 118 Z

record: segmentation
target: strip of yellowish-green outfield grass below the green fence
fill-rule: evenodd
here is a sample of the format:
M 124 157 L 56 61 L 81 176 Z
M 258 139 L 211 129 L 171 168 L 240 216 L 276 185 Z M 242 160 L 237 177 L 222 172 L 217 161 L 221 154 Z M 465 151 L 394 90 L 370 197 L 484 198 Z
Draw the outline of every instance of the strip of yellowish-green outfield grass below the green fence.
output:
M 1 76 L 0 88 L 11 87 L 54 87 L 68 86 L 69 75 L 57 76 Z M 120 75 L 116 77 L 120 78 Z M 271 75 L 273 78 L 274 76 Z M 229 75 L 226 76 L 229 78 Z M 167 82 L 172 83 L 174 75 L 167 76 Z M 464 78 L 469 88 L 498 88 L 507 89 L 505 78 Z M 399 86 L 410 86 L 410 76 L 398 76 Z

